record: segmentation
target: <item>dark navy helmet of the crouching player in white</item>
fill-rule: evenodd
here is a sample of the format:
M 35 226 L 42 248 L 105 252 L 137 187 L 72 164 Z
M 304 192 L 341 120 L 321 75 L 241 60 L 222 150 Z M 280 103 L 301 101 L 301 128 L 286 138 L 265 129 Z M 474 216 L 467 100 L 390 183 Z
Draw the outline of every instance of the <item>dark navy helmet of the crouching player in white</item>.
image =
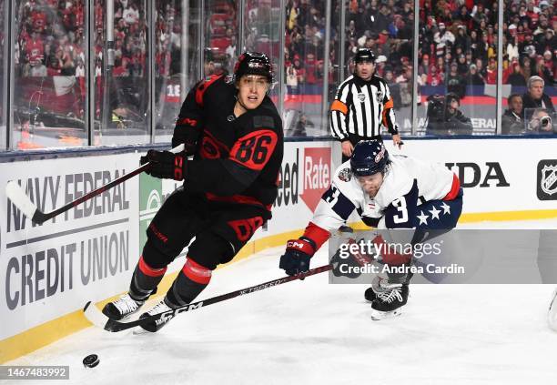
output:
M 390 163 L 389 153 L 379 140 L 362 140 L 350 157 L 350 168 L 356 177 L 367 177 L 378 172 L 384 173 Z

